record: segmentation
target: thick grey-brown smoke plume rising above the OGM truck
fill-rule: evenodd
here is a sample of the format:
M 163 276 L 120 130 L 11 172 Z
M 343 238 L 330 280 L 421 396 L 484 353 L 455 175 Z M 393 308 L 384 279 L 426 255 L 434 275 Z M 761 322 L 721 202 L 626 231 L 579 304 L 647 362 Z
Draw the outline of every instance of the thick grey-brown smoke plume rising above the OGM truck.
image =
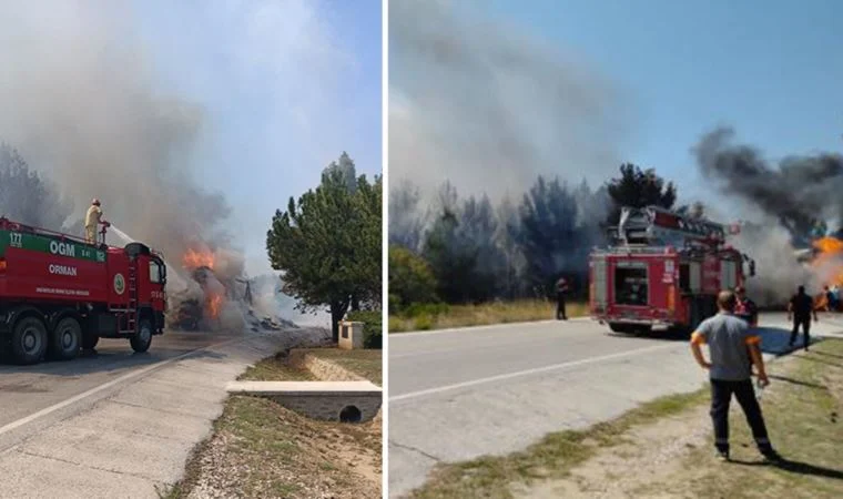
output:
M 3 3 L 0 139 L 72 201 L 70 220 L 99 197 L 106 220 L 171 259 L 228 245 L 231 207 L 193 164 L 205 110 L 158 74 L 129 9 Z

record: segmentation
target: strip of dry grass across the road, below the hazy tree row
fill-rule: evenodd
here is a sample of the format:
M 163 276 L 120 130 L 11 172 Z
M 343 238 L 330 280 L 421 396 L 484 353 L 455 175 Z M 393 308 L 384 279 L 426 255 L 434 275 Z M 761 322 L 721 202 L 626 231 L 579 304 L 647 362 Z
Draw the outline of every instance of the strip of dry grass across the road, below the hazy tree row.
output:
M 586 303 L 568 303 L 568 317 L 588 315 Z M 389 333 L 448 329 L 490 324 L 528 323 L 556 318 L 556 303 L 525 299 L 481 305 L 451 305 L 440 314 L 422 313 L 413 317 L 390 316 Z

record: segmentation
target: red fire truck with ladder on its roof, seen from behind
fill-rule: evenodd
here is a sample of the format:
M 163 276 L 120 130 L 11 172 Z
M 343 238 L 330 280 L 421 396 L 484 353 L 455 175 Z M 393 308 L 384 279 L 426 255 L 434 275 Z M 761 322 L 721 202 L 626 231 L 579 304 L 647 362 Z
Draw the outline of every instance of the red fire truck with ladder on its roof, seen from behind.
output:
M 589 258 L 591 317 L 617 333 L 694 328 L 717 313 L 721 289 L 755 274 L 755 263 L 725 244 L 739 228 L 623 207 L 609 246 Z

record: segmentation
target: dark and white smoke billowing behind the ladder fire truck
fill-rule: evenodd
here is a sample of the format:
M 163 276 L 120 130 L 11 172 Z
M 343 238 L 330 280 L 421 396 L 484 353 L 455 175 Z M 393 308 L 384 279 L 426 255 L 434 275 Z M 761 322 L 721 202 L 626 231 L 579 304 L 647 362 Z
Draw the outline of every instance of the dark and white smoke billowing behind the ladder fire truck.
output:
M 763 304 L 782 303 L 806 285 L 819 292 L 840 278 L 843 258 L 831 255 L 822 265 L 804 266 L 795 246 L 810 246 L 817 221 L 832 230 L 843 223 L 843 156 L 820 153 L 788 156 L 778 165 L 752 146 L 733 143 L 734 131 L 720 128 L 693 149 L 702 174 L 732 200 L 754 208 L 761 220 L 735 240 L 737 247 L 758 261 L 758 276 L 748 287 Z M 835 226 L 836 225 L 836 226 Z

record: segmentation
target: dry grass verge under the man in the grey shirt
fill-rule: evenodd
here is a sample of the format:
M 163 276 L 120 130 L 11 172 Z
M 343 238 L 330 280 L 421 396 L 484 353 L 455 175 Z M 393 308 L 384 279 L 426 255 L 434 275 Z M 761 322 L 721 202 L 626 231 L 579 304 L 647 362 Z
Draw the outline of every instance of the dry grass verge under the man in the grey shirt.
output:
M 607 483 L 615 488 L 611 497 L 843 497 L 843 425 L 837 422 L 843 340 L 825 339 L 768 370 L 773 385 L 761 404 L 771 439 L 785 458 L 779 466 L 763 465 L 734 401 L 734 462 L 713 459 L 709 389 L 703 387 L 582 431 L 548 435 L 509 456 L 440 465 L 410 497 L 511 498 L 525 489 L 529 497 L 588 497 L 595 490 L 606 495 Z M 698 436 L 687 441 L 691 432 Z M 537 490 L 550 495 L 532 493 Z

